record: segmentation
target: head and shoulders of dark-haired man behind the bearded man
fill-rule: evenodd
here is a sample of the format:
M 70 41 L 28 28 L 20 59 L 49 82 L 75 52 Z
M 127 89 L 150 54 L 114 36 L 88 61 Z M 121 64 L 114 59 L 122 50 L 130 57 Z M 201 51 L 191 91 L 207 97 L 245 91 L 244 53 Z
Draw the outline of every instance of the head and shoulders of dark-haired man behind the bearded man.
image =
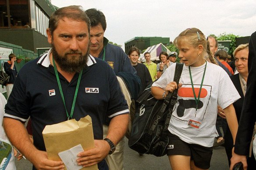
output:
M 121 47 L 108 43 L 108 39 L 104 37 L 107 28 L 106 18 L 100 10 L 94 8 L 86 10 L 91 21 L 90 28 L 90 54 L 99 59 L 106 61 L 114 72 L 131 72 L 136 75 L 128 56 Z

